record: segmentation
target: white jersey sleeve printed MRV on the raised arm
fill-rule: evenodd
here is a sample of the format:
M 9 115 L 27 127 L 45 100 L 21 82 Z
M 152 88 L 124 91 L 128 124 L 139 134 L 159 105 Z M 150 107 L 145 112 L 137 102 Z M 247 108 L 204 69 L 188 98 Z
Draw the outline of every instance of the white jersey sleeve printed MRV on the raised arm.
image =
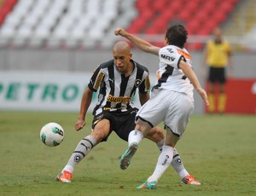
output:
M 179 62 L 184 59 L 183 55 L 177 52 L 177 49 L 166 49 L 162 48 L 159 51 L 160 61 L 166 63 L 168 66 L 179 68 Z

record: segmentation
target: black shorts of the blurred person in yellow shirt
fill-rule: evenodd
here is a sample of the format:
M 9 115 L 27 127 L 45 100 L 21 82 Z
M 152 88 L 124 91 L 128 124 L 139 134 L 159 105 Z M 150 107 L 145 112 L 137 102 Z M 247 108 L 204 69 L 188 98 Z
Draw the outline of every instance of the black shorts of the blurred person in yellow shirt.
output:
M 210 83 L 218 82 L 220 84 L 224 84 L 226 82 L 225 68 L 216 68 L 210 66 L 208 81 Z

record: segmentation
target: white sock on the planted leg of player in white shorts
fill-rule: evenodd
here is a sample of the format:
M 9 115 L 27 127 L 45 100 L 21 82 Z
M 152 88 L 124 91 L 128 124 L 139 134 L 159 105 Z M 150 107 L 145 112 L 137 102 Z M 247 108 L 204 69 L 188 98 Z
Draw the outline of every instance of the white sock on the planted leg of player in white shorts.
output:
M 158 158 L 157 164 L 154 169 L 152 176 L 148 177 L 148 182 L 158 181 L 160 176 L 164 174 L 168 166 L 172 163 L 173 147 L 163 146 L 162 152 Z

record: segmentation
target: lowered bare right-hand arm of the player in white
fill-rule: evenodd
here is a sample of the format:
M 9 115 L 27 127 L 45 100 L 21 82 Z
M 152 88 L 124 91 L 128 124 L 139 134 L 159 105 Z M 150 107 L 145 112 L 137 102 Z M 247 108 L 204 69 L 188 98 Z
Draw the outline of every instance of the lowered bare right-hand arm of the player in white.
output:
M 197 93 L 199 95 L 201 95 L 202 100 L 205 102 L 206 106 L 208 107 L 209 101 L 208 101 L 208 97 L 207 97 L 207 92 L 201 88 L 199 80 L 198 80 L 197 76 L 195 75 L 195 72 L 193 71 L 193 69 L 183 60 L 180 61 L 179 67 L 182 69 L 185 76 L 189 78 L 189 81 L 191 82 L 191 84 L 193 84 Z

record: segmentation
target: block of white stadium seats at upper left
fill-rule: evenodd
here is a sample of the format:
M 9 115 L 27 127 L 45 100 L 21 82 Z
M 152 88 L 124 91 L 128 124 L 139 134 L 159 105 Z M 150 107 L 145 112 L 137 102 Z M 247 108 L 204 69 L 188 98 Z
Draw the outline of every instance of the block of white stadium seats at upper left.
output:
M 12 38 L 19 45 L 28 40 L 32 46 L 45 42 L 55 47 L 62 43 L 68 47 L 108 46 L 116 25 L 126 27 L 136 16 L 128 9 L 134 1 L 20 0 L 4 20 L 0 40 Z M 120 11 L 126 19 L 119 17 Z

